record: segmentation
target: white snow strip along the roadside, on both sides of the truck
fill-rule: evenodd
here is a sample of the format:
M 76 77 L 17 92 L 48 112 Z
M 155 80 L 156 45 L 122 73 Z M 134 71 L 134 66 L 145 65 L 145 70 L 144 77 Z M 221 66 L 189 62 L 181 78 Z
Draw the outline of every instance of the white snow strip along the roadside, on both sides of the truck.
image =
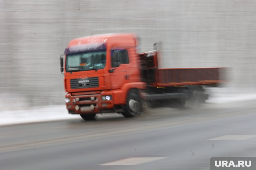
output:
M 241 93 L 227 95 L 225 91 L 212 94 L 206 103 L 219 104 L 237 101 L 246 101 L 256 99 L 256 94 Z M 211 93 L 209 91 L 209 93 Z M 32 107 L 30 109 L 10 108 L 6 111 L 0 111 L 0 126 L 31 122 L 45 122 L 65 119 L 81 119 L 79 115 L 67 113 L 65 105 Z

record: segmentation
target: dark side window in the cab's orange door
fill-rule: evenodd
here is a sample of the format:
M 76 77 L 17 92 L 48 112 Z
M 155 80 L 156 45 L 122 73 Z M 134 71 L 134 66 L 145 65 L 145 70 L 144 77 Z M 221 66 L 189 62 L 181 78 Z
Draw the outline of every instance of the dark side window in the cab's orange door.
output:
M 123 49 L 111 50 L 111 66 L 118 67 L 120 64 L 128 64 L 128 52 Z

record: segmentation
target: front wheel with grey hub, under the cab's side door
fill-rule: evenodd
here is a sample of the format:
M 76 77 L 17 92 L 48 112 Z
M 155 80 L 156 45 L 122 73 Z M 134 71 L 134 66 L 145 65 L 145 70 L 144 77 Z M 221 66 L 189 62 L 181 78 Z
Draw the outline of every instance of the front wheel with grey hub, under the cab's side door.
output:
M 134 117 L 141 111 L 141 108 L 141 99 L 138 92 L 136 90 L 130 91 L 124 107 L 125 112 L 122 112 L 122 115 L 126 118 Z

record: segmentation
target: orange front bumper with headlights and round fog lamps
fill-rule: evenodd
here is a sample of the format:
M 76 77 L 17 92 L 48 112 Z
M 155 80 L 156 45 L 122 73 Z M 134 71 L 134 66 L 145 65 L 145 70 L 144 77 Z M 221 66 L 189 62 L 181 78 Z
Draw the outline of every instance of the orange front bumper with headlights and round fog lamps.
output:
M 96 92 L 95 92 L 96 93 Z M 85 95 L 66 94 L 66 108 L 70 114 L 90 114 L 113 112 L 114 102 L 111 91 L 101 91 Z

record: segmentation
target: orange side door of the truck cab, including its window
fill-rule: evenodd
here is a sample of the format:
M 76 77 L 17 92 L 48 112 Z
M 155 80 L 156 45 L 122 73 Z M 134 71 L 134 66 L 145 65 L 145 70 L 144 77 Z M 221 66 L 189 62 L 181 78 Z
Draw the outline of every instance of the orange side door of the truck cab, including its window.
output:
M 127 68 L 129 57 L 127 49 L 112 49 L 110 51 L 111 67 L 110 84 L 112 89 L 119 89 L 123 83 L 128 82 Z

